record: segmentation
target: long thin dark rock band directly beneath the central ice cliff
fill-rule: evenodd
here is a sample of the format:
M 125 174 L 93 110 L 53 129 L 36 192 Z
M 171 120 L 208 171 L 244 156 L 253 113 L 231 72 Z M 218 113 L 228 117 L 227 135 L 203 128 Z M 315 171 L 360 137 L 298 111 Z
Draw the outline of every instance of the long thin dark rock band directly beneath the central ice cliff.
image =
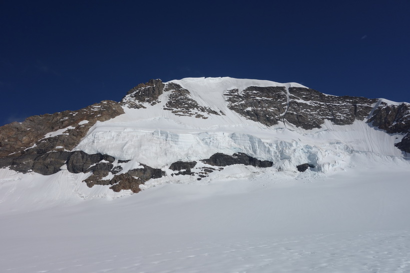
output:
M 222 153 L 213 154 L 209 159 L 201 160 L 211 166 L 230 166 L 235 164 L 252 165 L 254 167 L 267 168 L 272 167 L 272 161 L 261 161 L 244 153 L 226 155 Z

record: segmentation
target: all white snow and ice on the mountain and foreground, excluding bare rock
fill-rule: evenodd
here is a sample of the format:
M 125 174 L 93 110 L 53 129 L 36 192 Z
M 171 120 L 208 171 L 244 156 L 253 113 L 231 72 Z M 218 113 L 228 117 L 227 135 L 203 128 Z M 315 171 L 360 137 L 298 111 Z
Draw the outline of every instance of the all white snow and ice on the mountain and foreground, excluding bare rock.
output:
M 172 82 L 224 115 L 174 115 L 164 92 L 153 106 L 97 122 L 75 148 L 130 160 L 121 172 L 140 163 L 165 170 L 140 193 L 88 188 L 90 174 L 66 169 L 0 169 L 0 272 L 410 272 L 410 161 L 394 146 L 402 135 L 366 120 L 266 127 L 221 99 L 233 88 L 297 83 Z M 228 166 L 200 181 L 170 175 L 172 162 L 217 152 L 274 165 Z M 315 168 L 298 172 L 304 163 Z

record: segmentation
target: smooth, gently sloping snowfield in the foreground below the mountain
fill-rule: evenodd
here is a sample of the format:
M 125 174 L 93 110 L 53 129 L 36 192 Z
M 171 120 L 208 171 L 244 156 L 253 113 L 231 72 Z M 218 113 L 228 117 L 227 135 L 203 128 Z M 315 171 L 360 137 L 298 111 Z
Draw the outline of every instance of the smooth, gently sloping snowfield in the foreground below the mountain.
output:
M 260 173 L 31 208 L 20 196 L 0 204 L 0 272 L 410 272 L 409 163 L 355 159 L 326 177 Z

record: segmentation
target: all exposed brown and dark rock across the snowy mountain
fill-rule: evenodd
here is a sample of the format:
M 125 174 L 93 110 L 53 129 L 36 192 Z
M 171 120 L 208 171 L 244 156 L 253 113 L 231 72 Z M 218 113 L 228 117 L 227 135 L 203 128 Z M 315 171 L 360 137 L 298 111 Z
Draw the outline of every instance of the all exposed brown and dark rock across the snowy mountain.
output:
M 395 145 L 410 153 L 409 103 L 388 104 L 378 99 L 338 97 L 310 88 L 285 85 L 248 86 L 243 90 L 228 88 L 223 97 L 228 109 L 268 127 L 283 122 L 310 130 L 321 128 L 325 120 L 335 125 L 366 120 L 370 126 L 400 135 L 400 142 Z M 138 167 L 124 169 L 128 159 L 75 150 L 97 121 L 107 121 L 124 114 L 124 108 L 146 109 L 155 105 L 176 116 L 208 119 L 225 115 L 220 109 L 196 101 L 190 90 L 180 84 L 150 80 L 129 90 L 119 103 L 102 101 L 77 111 L 32 116 L 21 123 L 13 122 L 0 127 L 0 168 L 51 175 L 65 166 L 71 173 L 88 174 L 84 180 L 88 187 L 106 185 L 113 191 L 131 190 L 136 193 L 139 185 L 147 180 L 167 174 L 195 176 L 200 180 L 229 165 L 268 168 L 274 164 L 245 153 L 216 153 L 201 160 L 200 165 L 196 161 L 177 161 L 169 167 L 152 168 L 141 162 Z M 314 168 L 306 163 L 298 165 L 297 169 L 304 171 L 309 167 Z

